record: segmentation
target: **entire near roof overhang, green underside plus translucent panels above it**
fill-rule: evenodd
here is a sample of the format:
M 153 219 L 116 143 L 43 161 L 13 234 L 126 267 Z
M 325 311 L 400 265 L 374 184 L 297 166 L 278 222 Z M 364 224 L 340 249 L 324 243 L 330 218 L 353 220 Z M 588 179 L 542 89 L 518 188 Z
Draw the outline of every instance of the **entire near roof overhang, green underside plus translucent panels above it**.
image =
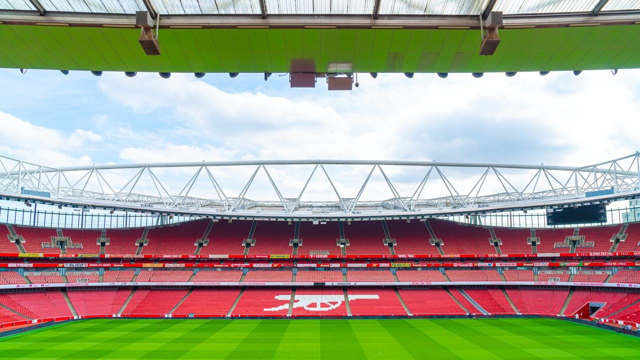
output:
M 157 20 L 161 55 L 134 13 Z M 481 24 L 504 12 L 479 55 Z M 638 0 L 0 0 L 0 67 L 141 72 L 524 72 L 640 67 Z M 300 69 L 294 69 L 296 62 Z

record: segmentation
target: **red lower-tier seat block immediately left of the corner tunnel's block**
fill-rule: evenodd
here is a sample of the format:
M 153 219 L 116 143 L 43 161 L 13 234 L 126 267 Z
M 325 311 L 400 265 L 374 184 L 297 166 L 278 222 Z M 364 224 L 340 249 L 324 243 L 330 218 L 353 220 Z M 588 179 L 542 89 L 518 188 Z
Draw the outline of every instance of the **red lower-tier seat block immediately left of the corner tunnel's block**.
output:
M 508 288 L 506 291 L 511 301 L 513 301 L 513 304 L 523 315 L 541 314 L 556 316 L 560 313 L 564 301 L 569 295 L 568 288 L 557 288 L 553 290 Z

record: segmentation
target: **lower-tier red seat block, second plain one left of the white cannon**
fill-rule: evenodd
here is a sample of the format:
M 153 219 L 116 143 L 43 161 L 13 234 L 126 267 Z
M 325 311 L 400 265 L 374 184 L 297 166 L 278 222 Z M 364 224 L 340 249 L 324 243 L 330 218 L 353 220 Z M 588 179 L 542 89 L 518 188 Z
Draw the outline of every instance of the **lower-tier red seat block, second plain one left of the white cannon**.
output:
M 188 291 L 187 289 L 138 289 L 122 314 L 168 314 Z

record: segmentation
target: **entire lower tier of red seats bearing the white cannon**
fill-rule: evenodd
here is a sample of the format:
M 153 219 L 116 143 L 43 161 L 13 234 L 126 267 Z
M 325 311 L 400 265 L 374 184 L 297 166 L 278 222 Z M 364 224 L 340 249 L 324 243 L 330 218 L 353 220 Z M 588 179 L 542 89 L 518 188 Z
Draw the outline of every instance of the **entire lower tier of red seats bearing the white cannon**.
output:
M 73 316 L 415 316 L 480 315 L 472 302 L 492 315 L 557 316 L 568 301 L 568 288 L 506 286 L 456 288 L 390 287 L 198 287 L 191 288 L 68 288 L 4 291 L 0 293 L 0 324 Z M 292 294 L 292 290 L 295 292 Z M 69 303 L 65 299 L 67 293 Z M 471 299 L 467 299 L 465 294 Z M 293 295 L 293 296 L 292 296 Z M 127 302 L 129 300 L 129 302 Z M 237 304 L 236 304 L 237 302 Z M 403 306 L 406 305 L 406 309 Z M 70 305 L 69 305 L 70 304 Z M 126 305 L 125 305 L 126 304 Z M 236 306 L 234 307 L 234 304 Z M 573 290 L 565 316 L 591 306 L 584 316 L 640 322 L 640 291 Z M 71 307 L 70 307 L 71 306 Z M 600 309 L 598 309 L 600 306 Z

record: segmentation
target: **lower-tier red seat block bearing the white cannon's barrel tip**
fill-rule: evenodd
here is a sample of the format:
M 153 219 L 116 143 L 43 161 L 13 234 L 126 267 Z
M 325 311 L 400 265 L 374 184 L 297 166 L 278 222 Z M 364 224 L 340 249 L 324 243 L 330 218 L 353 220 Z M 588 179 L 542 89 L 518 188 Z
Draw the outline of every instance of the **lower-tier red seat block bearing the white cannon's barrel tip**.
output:
M 347 294 L 353 316 L 407 315 L 391 288 L 348 288 Z

